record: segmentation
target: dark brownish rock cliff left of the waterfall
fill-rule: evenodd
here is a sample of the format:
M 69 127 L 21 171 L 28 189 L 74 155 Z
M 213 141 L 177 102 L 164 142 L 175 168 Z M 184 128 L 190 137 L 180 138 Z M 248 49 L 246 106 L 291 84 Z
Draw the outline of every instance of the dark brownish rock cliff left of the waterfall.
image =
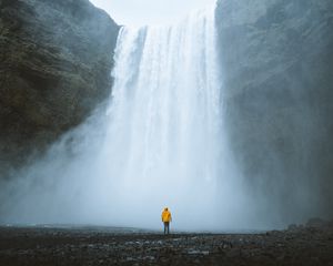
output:
M 0 0 L 0 170 L 110 94 L 118 31 L 88 0 Z

